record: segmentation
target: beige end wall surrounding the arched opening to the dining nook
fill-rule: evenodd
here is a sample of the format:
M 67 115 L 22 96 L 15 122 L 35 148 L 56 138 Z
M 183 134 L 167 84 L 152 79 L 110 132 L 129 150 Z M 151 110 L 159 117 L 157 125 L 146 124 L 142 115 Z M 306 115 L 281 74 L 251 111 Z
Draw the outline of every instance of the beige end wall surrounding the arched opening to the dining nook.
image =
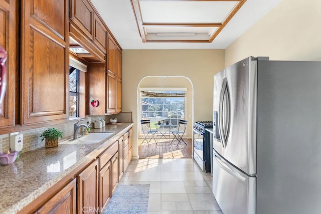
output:
M 135 123 L 133 158 L 138 157 L 137 87 L 146 76 L 189 78 L 194 86 L 194 121 L 212 119 L 213 76 L 224 69 L 224 50 L 123 50 L 122 62 L 122 110 L 131 111 Z

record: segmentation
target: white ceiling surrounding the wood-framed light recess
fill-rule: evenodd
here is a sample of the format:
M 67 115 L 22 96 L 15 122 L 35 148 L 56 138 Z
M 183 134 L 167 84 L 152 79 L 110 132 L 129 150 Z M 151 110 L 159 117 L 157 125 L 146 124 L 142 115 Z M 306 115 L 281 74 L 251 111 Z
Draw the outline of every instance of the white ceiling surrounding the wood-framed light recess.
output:
M 122 49 L 225 49 L 281 1 L 247 0 L 212 43 L 143 43 L 130 0 L 91 0 Z M 144 3 L 148 4 L 148 2 Z M 191 17 L 192 9 L 185 9 L 187 19 Z M 202 14 L 206 21 L 210 12 L 204 11 Z M 152 13 L 145 17 L 147 16 L 150 21 L 153 21 Z M 179 17 L 183 16 L 184 14 L 180 14 Z M 172 16 L 167 16 L 164 20 L 171 22 L 171 18 Z M 177 19 L 174 16 L 173 18 Z

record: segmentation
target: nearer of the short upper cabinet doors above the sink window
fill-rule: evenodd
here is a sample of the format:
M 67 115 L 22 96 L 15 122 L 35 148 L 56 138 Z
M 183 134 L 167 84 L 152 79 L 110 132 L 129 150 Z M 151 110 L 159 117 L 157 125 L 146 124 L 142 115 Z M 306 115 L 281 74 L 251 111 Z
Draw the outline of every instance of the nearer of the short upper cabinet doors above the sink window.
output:
M 92 6 L 88 0 L 71 0 L 70 3 L 70 19 L 92 40 L 94 17 Z

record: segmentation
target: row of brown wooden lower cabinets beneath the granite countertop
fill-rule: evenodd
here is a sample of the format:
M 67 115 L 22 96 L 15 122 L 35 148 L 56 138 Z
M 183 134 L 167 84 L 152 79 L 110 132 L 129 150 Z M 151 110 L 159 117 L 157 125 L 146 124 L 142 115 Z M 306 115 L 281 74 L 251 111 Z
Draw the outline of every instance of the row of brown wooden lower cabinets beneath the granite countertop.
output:
M 129 133 L 129 134 L 128 134 Z M 129 137 L 128 137 L 129 136 Z M 131 160 L 131 134 L 128 131 L 92 160 L 84 168 L 79 168 L 67 185 L 58 185 L 54 196 L 45 200 L 37 198 L 29 210 L 35 213 L 98 213 L 104 211 L 112 194 Z M 118 151 L 120 149 L 120 153 Z M 121 166 L 120 166 L 121 165 Z M 78 173 L 79 172 L 79 173 Z M 77 176 L 76 176 L 77 175 Z M 75 177 L 76 176 L 76 177 Z M 64 182 L 66 183 L 66 182 Z M 51 195 L 48 190 L 44 195 Z M 39 201 L 46 201 L 39 204 Z M 23 210 L 20 213 L 25 213 Z

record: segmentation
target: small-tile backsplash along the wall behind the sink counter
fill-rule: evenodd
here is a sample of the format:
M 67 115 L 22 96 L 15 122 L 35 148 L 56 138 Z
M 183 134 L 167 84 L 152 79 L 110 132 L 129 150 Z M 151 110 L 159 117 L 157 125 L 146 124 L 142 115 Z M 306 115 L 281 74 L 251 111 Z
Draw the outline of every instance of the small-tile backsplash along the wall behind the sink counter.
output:
M 131 112 L 121 112 L 119 114 L 113 114 L 113 115 L 90 116 L 90 117 L 91 117 L 92 123 L 95 120 L 101 120 L 101 119 L 104 119 L 106 123 L 109 123 L 110 118 L 112 119 L 117 118 L 117 122 L 131 123 L 132 122 L 131 115 L 132 115 Z M 19 132 L 19 134 L 24 135 L 23 152 L 37 149 L 40 147 L 45 147 L 45 140 L 41 141 L 40 135 L 48 128 L 60 129 L 61 131 L 63 131 L 63 138 L 65 139 L 71 137 L 73 135 L 73 124 L 75 121 L 76 120 L 70 120 L 68 123 L 45 126 L 41 128 L 35 128 L 35 129 Z M 80 123 L 87 123 L 87 118 L 84 121 L 81 121 Z M 93 127 L 92 123 L 91 123 L 91 127 Z M 10 134 L 0 135 L 0 152 L 6 152 L 7 150 L 9 150 L 9 144 L 10 144 Z

